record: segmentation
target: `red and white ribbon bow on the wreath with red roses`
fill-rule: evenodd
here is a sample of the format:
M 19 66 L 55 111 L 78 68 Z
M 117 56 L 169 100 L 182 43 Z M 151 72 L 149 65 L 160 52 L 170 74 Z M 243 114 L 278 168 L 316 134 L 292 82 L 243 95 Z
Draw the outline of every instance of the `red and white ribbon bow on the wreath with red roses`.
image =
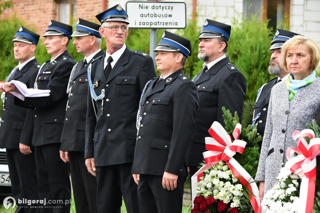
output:
M 245 141 L 238 140 L 240 131 L 241 124 L 237 123 L 232 133 L 235 140 L 232 142 L 231 136 L 228 135 L 221 124 L 217 121 L 213 122 L 209 129 L 209 134 L 212 137 L 205 138 L 205 146 L 208 151 L 205 151 L 203 156 L 206 164 L 191 177 L 192 201 L 196 197 L 197 182 L 200 181 L 200 177 L 203 177 L 203 172 L 223 160 L 229 166 L 233 175 L 236 178 L 240 177 L 240 182 L 252 192 L 253 195 L 248 194 L 251 199 L 250 202 L 254 212 L 258 211 L 260 205 L 259 189 L 251 175 L 233 158 L 236 152 L 243 153 L 247 144 Z

